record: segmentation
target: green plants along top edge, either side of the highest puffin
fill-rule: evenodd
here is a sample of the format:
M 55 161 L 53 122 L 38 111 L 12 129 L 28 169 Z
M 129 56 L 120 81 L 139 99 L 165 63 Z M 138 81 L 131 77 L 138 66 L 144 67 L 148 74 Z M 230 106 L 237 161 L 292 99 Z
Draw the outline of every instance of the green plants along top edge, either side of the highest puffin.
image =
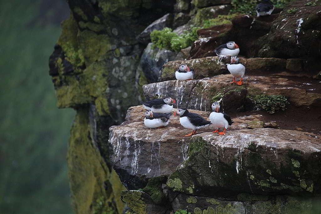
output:
M 286 4 L 293 0 L 274 0 L 275 7 L 284 8 Z M 232 0 L 232 9 L 230 13 L 245 13 L 249 15 L 255 15 L 256 5 L 260 2 L 260 0 Z

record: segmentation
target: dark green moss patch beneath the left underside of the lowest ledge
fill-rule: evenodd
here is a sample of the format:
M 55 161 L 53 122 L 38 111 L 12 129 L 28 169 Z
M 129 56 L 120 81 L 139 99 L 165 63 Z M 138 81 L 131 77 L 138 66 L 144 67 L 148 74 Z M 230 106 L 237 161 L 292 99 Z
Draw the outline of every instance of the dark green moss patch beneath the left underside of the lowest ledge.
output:
M 165 179 L 165 176 L 150 178 L 147 185 L 143 188 L 143 191 L 149 194 L 156 204 L 161 204 L 166 201 L 166 197 L 161 188 Z

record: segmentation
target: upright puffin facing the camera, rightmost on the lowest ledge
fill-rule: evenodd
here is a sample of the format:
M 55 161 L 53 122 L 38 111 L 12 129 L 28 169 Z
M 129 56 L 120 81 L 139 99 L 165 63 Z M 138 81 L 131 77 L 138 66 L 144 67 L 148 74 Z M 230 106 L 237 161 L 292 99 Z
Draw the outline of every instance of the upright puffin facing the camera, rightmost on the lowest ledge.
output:
M 213 102 L 212 104 L 213 112 L 210 114 L 210 120 L 212 124 L 216 127 L 216 130 L 213 133 L 218 132 L 218 134 L 225 134 L 226 129 L 229 125 L 232 125 L 233 121 L 230 116 L 226 113 L 221 113 L 220 111 L 220 103 Z M 223 132 L 219 132 L 219 129 L 224 128 Z

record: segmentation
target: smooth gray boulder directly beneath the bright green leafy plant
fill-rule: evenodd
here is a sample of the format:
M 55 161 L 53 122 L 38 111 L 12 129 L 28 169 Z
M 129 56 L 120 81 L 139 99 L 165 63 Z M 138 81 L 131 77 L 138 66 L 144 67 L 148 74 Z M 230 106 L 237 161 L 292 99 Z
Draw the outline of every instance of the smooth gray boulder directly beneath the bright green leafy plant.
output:
M 175 59 L 177 53 L 170 50 L 159 50 L 152 48 L 153 43 L 149 43 L 144 49 L 139 63 L 139 71 L 142 71 L 149 82 L 157 82 L 160 69 L 163 64 Z

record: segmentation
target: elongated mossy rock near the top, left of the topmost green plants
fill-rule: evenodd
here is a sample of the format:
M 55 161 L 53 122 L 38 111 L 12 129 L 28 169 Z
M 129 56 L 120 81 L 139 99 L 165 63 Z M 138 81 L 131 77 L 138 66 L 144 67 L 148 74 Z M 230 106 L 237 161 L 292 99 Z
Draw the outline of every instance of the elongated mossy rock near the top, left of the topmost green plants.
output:
M 196 24 L 202 25 L 204 20 L 216 18 L 218 15 L 226 15 L 229 13 L 230 9 L 230 4 L 202 8 L 197 10 L 194 21 Z

